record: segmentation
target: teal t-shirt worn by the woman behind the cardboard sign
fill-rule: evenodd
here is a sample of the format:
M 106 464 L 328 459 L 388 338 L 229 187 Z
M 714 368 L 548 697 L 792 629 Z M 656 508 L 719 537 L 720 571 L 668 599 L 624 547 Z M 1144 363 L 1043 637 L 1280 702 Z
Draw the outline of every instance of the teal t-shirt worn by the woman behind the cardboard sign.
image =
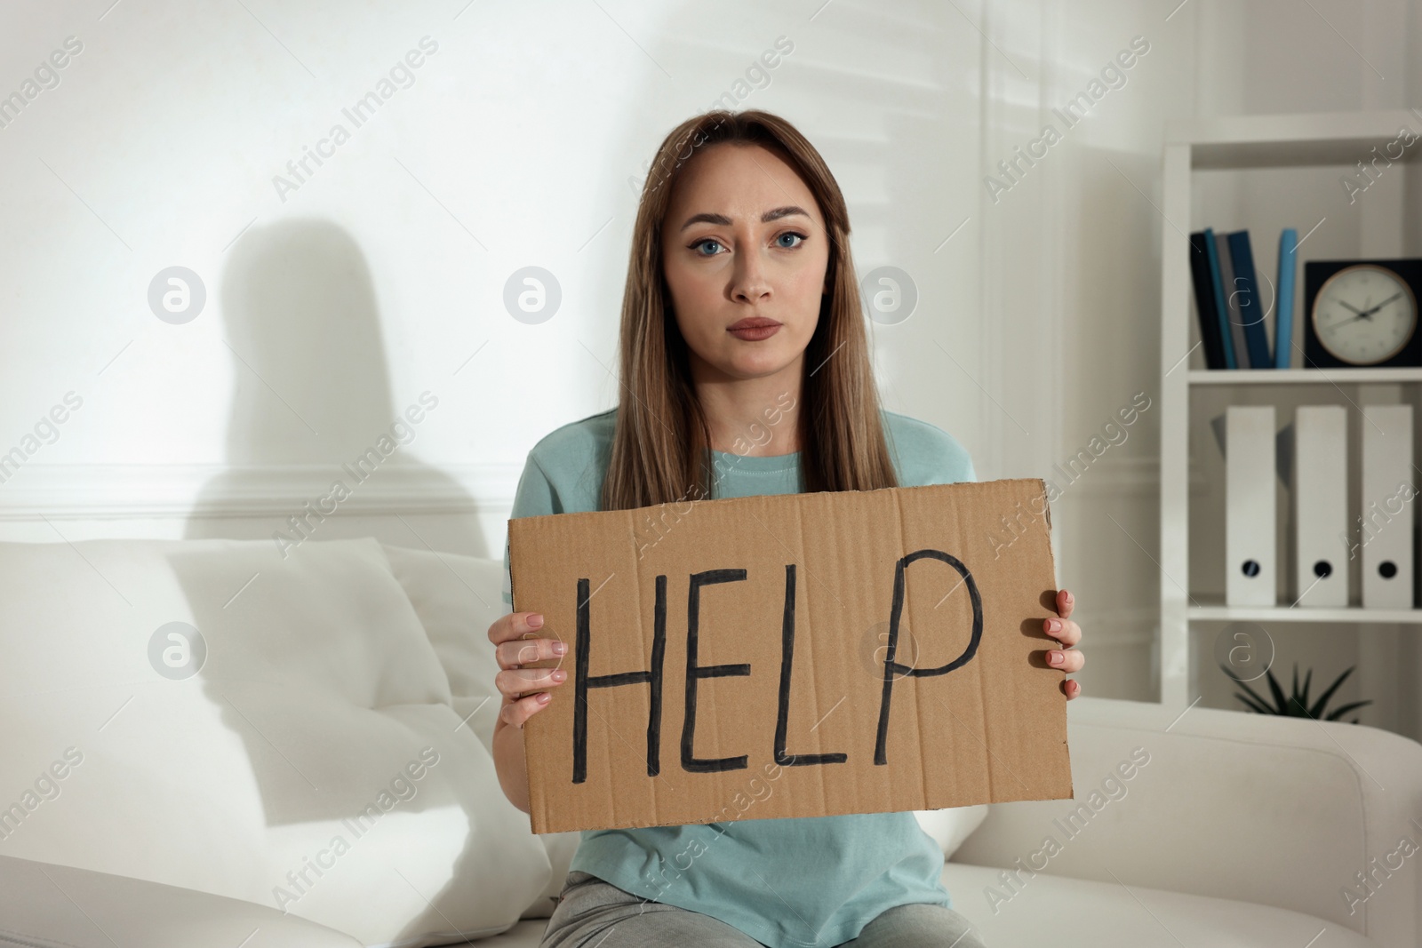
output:
M 611 409 L 539 441 L 512 516 L 597 510 L 616 419 Z M 977 479 L 947 432 L 894 412 L 883 421 L 900 486 Z M 717 451 L 712 460 L 712 497 L 803 492 L 798 453 Z M 505 604 L 508 569 L 505 544 Z M 720 918 L 771 948 L 840 945 L 894 905 L 953 907 L 943 850 L 909 812 L 584 830 L 570 868 Z

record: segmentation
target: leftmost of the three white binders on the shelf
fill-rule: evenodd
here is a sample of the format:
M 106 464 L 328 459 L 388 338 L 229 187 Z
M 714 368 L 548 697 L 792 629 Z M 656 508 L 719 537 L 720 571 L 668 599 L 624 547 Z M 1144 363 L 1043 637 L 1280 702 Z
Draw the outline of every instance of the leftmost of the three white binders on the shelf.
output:
M 1276 605 L 1274 406 L 1224 414 L 1224 601 Z

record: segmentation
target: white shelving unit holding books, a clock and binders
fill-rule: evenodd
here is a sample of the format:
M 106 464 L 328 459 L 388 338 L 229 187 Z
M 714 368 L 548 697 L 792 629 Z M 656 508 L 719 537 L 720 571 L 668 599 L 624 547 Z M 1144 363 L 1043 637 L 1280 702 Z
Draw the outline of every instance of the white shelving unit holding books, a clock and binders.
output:
M 1193 274 L 1189 260 L 1187 226 L 1194 220 L 1199 200 L 1197 189 L 1216 188 L 1223 183 L 1246 189 L 1260 188 L 1270 195 L 1266 203 L 1287 210 L 1287 186 L 1293 182 L 1301 186 L 1287 169 L 1354 169 L 1358 162 L 1371 161 L 1376 153 L 1385 153 L 1392 162 L 1402 162 L 1411 169 L 1422 163 L 1422 142 L 1402 145 L 1411 141 L 1401 129 L 1418 129 L 1422 122 L 1422 108 L 1376 109 L 1354 112 L 1301 112 L 1294 115 L 1220 115 L 1199 117 L 1166 124 L 1165 144 L 1160 156 L 1160 536 L 1156 566 L 1160 581 L 1160 627 L 1155 642 L 1153 684 L 1159 685 L 1160 702 L 1185 709 L 1199 698 L 1199 674 L 1196 652 L 1200 645 L 1192 637 L 1192 625 L 1199 631 L 1199 623 L 1260 623 L 1297 625 L 1332 632 L 1318 623 L 1331 623 L 1342 635 L 1365 637 L 1365 632 L 1386 625 L 1416 627 L 1422 630 L 1422 608 L 1365 610 L 1361 604 L 1342 608 L 1293 607 L 1291 600 L 1264 607 L 1226 605 L 1223 590 L 1219 597 L 1192 598 L 1182 594 L 1190 588 L 1190 526 L 1200 516 L 1192 505 L 1192 418 L 1203 419 L 1196 412 L 1214 401 L 1264 402 L 1293 401 L 1294 395 L 1317 397 L 1321 401 L 1351 399 L 1357 404 L 1376 401 L 1359 398 L 1359 385 L 1404 385 L 1422 382 L 1422 368 L 1287 368 L 1287 370 L 1190 370 L 1186 358 L 1203 360 L 1192 348 L 1199 320 L 1190 306 Z M 1401 146 L 1401 153 L 1399 153 Z M 1374 149 L 1378 149 L 1376 152 Z M 1249 173 L 1216 181 L 1217 172 L 1244 169 Z M 1270 173 L 1280 169 L 1285 173 Z M 1401 173 L 1396 171 L 1394 173 Z M 1318 175 L 1307 176 L 1317 182 Z M 1328 178 L 1324 175 L 1322 178 Z M 1311 186 L 1311 185 L 1310 185 Z M 1281 190 L 1284 189 L 1284 190 Z M 1369 195 L 1371 196 L 1371 195 Z M 1413 215 L 1415 216 L 1415 215 Z M 1249 215 L 1236 223 L 1256 217 Z M 1266 219 L 1263 216 L 1257 217 Z M 1182 223 L 1185 222 L 1185 223 Z M 1396 239 L 1404 246 L 1406 213 L 1381 212 L 1376 223 L 1384 225 L 1384 235 L 1368 235 L 1364 243 Z M 1314 220 L 1294 222 L 1314 226 Z M 1330 217 L 1328 226 L 1334 226 Z M 1273 227 L 1273 225 L 1271 225 Z M 1359 235 L 1362 232 L 1359 230 Z M 1301 236 L 1307 237 L 1303 232 Z M 1340 233 L 1338 240 L 1344 240 Z M 1315 244 L 1308 244 L 1315 246 Z M 1307 252 L 1307 246 L 1304 247 Z M 1295 298 L 1295 304 L 1301 304 Z M 1304 318 L 1295 306 L 1294 334 L 1303 343 Z M 1197 348 L 1199 344 L 1194 344 Z M 1186 358 L 1182 358 L 1185 355 Z M 1308 365 L 1304 361 L 1304 365 Z M 1244 385 L 1303 385 L 1291 389 L 1246 389 Z M 1202 392 L 1209 397 L 1202 398 Z M 1402 392 L 1405 399 L 1418 394 L 1413 389 Z M 1341 395 L 1341 398 L 1340 398 Z M 1305 398 L 1305 401 L 1307 401 Z M 1386 397 L 1379 395 L 1384 401 Z M 1213 570 L 1212 570 L 1213 571 Z M 1281 632 L 1284 634 L 1284 632 Z

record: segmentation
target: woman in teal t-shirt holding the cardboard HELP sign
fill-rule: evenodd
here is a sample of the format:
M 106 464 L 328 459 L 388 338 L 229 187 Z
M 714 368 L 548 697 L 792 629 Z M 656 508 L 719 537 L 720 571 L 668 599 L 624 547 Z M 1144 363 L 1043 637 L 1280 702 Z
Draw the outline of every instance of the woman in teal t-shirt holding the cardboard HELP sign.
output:
M 633 236 L 620 381 L 614 411 L 533 448 L 515 517 L 975 479 L 953 436 L 879 408 L 843 196 L 768 112 L 707 112 L 661 144 Z M 1044 620 L 1061 642 L 1047 658 L 1068 672 L 1084 662 L 1072 605 L 1061 590 L 1061 618 Z M 513 613 L 489 627 L 503 669 L 495 765 L 525 812 L 519 732 L 567 678 L 520 668 L 567 651 L 540 625 Z M 941 870 L 913 813 L 584 831 L 542 944 L 981 947 Z

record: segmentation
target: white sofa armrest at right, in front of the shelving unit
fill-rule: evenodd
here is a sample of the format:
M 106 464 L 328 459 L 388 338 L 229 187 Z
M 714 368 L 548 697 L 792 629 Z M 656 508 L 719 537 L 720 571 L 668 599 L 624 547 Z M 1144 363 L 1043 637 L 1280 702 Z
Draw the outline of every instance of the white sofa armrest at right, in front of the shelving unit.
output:
M 1068 748 L 1072 800 L 994 803 L 951 857 L 1010 870 L 998 898 L 1044 871 L 1277 905 L 1384 945 L 1419 944 L 1415 740 L 1362 725 L 1078 698 Z

